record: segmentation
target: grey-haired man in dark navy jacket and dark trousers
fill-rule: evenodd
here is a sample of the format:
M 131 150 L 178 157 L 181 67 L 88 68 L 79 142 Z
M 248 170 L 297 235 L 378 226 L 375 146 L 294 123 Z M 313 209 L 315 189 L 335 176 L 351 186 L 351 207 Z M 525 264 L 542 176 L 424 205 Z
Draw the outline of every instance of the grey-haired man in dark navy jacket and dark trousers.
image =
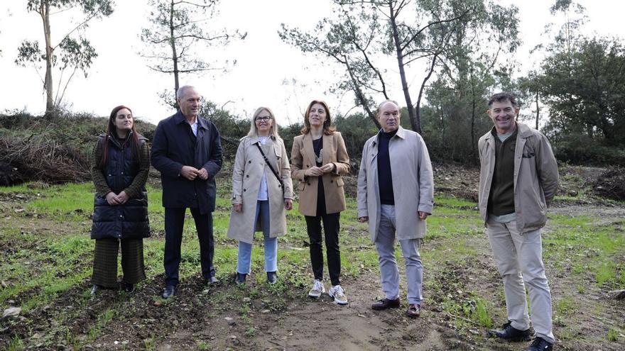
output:
M 217 282 L 212 265 L 214 242 L 212 212 L 215 206 L 214 177 L 222 167 L 222 144 L 213 123 L 198 115 L 200 95 L 194 87 L 176 92 L 180 111 L 158 123 L 152 145 L 152 165 L 161 172 L 165 207 L 165 291 L 175 294 L 178 286 L 180 245 L 185 211 L 190 208 L 200 240 L 202 277 Z

